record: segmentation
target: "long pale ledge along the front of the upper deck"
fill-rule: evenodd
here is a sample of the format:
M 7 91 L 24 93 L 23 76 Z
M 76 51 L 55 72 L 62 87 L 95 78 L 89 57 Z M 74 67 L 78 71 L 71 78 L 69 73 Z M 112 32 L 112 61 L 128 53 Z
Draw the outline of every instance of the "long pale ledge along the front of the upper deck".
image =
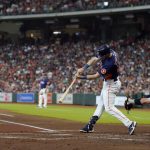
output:
M 61 16 L 85 16 L 95 14 L 110 14 L 110 13 L 123 13 L 123 12 L 137 12 L 149 11 L 150 5 L 134 6 L 134 7 L 121 7 L 121 8 L 108 8 L 96 10 L 80 10 L 72 12 L 56 12 L 56 13 L 40 13 L 40 14 L 15 14 L 15 15 L 1 15 L 0 20 L 13 20 L 13 19 L 29 19 L 29 18 L 53 18 Z

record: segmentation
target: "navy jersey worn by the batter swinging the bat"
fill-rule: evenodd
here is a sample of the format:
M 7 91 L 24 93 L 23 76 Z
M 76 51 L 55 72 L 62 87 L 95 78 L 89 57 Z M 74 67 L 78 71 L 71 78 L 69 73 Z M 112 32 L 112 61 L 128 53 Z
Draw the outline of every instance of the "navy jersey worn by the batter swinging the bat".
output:
M 112 56 L 102 60 L 102 64 L 98 70 L 100 76 L 104 80 L 114 79 L 117 80 L 119 75 L 119 65 L 118 65 L 118 56 L 117 53 L 111 50 Z

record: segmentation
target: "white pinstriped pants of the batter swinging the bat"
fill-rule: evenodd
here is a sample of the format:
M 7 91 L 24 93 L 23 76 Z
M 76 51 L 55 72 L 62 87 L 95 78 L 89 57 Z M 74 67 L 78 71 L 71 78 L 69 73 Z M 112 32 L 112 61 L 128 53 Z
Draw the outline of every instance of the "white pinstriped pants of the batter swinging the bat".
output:
M 121 111 L 119 111 L 114 106 L 115 97 L 119 92 L 120 87 L 120 80 L 107 80 L 103 82 L 100 99 L 93 116 L 98 116 L 100 118 L 105 110 L 107 113 L 120 120 L 126 127 L 129 127 L 132 121 L 130 121 Z

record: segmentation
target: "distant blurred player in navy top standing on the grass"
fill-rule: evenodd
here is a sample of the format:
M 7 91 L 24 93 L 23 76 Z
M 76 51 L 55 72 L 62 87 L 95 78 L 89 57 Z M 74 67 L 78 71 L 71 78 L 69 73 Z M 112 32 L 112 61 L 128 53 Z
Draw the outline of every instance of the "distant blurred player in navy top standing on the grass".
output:
M 47 90 L 48 90 L 48 79 L 43 76 L 40 80 L 39 84 L 40 90 L 39 90 L 39 108 L 46 108 L 47 107 Z M 44 103 L 43 103 L 44 102 Z

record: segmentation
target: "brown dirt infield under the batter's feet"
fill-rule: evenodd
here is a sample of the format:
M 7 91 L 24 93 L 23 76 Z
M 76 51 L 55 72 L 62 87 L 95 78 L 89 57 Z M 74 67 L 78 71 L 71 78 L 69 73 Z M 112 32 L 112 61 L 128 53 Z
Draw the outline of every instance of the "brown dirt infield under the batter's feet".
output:
M 83 123 L 0 111 L 0 150 L 149 150 L 150 125 L 128 135 L 123 125 L 97 124 L 80 133 Z

